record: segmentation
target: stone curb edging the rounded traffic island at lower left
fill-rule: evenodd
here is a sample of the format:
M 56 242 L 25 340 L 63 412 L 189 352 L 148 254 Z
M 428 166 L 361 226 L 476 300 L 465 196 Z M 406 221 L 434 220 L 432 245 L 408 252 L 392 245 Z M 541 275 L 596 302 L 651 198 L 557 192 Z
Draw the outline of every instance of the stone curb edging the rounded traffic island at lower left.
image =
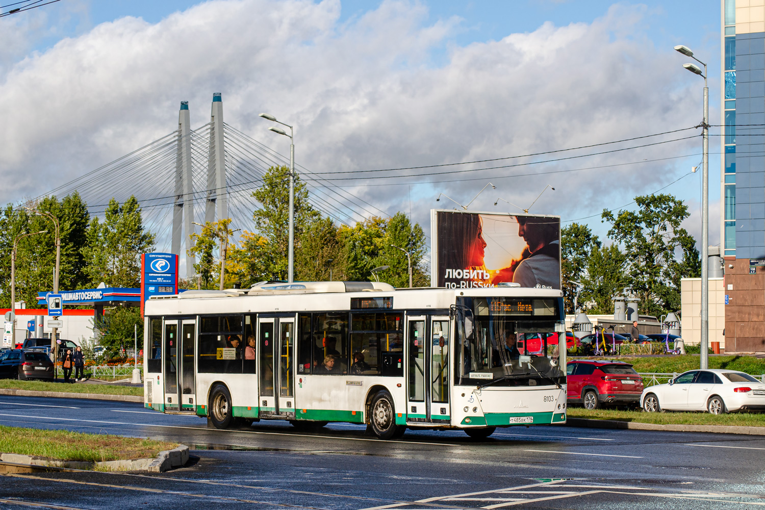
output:
M 60 460 L 18 453 L 0 453 L 0 462 L 14 463 L 16 465 L 91 470 L 106 468 L 108 471 L 148 471 L 153 473 L 161 473 L 175 467 L 184 466 L 188 460 L 189 447 L 184 444 L 173 450 L 160 452 L 154 459 L 106 460 L 103 462 Z

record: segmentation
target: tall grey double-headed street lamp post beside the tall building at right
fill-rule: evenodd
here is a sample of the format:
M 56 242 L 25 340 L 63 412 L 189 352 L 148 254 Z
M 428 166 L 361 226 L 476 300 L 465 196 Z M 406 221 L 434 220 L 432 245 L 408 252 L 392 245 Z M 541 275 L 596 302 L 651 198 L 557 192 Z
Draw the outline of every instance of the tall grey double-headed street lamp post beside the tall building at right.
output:
M 691 57 L 704 66 L 704 70 L 694 63 L 685 63 L 682 67 L 704 78 L 704 119 L 703 128 L 703 151 L 702 164 L 702 340 L 701 340 L 701 368 L 709 366 L 709 88 L 707 86 L 707 64 L 693 56 L 693 52 L 687 46 L 675 46 L 675 50 Z

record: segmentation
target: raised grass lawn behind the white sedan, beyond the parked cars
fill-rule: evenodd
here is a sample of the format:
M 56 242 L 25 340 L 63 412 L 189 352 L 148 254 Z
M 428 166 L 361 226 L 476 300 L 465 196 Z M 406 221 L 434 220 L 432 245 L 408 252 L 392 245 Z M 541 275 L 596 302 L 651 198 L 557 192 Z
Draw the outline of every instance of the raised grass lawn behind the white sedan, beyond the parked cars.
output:
M 606 358 L 593 357 L 589 359 Z M 632 364 L 636 372 L 642 373 L 671 374 L 672 372 L 682 373 L 686 370 L 698 369 L 698 356 L 691 354 L 661 357 L 623 356 L 617 359 Z M 747 374 L 761 375 L 765 374 L 765 359 L 758 359 L 754 356 L 709 356 L 709 368 L 741 370 Z

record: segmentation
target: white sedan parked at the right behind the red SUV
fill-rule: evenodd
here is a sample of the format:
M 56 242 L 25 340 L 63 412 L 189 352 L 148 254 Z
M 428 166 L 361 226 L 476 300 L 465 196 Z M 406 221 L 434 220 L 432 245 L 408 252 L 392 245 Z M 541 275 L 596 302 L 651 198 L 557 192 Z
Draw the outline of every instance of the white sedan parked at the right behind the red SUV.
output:
M 765 383 L 735 370 L 691 370 L 664 385 L 649 386 L 640 395 L 644 411 L 728 411 L 765 410 Z

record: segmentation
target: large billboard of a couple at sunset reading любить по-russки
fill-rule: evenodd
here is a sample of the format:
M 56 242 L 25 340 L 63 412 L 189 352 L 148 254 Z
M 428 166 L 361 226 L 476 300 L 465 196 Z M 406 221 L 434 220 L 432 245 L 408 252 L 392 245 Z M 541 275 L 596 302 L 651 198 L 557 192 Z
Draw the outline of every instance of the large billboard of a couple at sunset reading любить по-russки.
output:
M 431 210 L 431 285 L 561 288 L 561 218 Z

